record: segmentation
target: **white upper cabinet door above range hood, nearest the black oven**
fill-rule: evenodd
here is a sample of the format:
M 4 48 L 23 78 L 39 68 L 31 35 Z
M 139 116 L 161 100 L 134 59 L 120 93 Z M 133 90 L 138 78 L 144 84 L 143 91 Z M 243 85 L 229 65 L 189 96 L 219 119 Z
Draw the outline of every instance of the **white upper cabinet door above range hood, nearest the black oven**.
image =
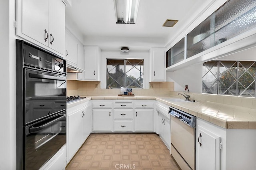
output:
M 78 40 L 68 31 L 66 30 L 65 35 L 66 42 L 66 55 L 65 58 L 68 62 L 70 62 L 73 66 L 78 66 Z

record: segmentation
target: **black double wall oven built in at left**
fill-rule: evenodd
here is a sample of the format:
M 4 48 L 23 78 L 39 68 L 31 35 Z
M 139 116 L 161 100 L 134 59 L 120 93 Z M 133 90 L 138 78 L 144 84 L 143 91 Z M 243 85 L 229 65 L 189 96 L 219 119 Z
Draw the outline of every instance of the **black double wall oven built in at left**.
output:
M 18 170 L 40 169 L 66 144 L 66 61 L 16 40 Z

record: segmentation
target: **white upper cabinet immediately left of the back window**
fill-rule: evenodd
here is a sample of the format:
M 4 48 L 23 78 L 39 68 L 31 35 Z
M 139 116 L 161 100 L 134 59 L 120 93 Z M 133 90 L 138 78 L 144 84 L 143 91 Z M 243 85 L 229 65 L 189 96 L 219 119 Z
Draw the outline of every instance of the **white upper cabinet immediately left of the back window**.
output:
M 100 81 L 100 56 L 98 46 L 84 46 L 84 80 Z

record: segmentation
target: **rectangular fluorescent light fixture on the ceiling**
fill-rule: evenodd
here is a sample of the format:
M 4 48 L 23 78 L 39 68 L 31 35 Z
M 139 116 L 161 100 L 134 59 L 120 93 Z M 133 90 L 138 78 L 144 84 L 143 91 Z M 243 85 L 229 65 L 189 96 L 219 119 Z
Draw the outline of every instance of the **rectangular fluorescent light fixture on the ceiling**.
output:
M 114 0 L 116 24 L 135 24 L 140 0 Z

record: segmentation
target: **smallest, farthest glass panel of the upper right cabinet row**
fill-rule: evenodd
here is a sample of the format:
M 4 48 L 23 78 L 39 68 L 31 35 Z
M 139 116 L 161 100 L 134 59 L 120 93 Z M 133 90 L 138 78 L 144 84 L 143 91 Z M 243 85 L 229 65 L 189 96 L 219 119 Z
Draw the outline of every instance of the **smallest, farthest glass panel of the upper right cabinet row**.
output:
M 166 67 L 169 67 L 184 60 L 184 42 L 185 39 L 183 38 L 167 51 Z

